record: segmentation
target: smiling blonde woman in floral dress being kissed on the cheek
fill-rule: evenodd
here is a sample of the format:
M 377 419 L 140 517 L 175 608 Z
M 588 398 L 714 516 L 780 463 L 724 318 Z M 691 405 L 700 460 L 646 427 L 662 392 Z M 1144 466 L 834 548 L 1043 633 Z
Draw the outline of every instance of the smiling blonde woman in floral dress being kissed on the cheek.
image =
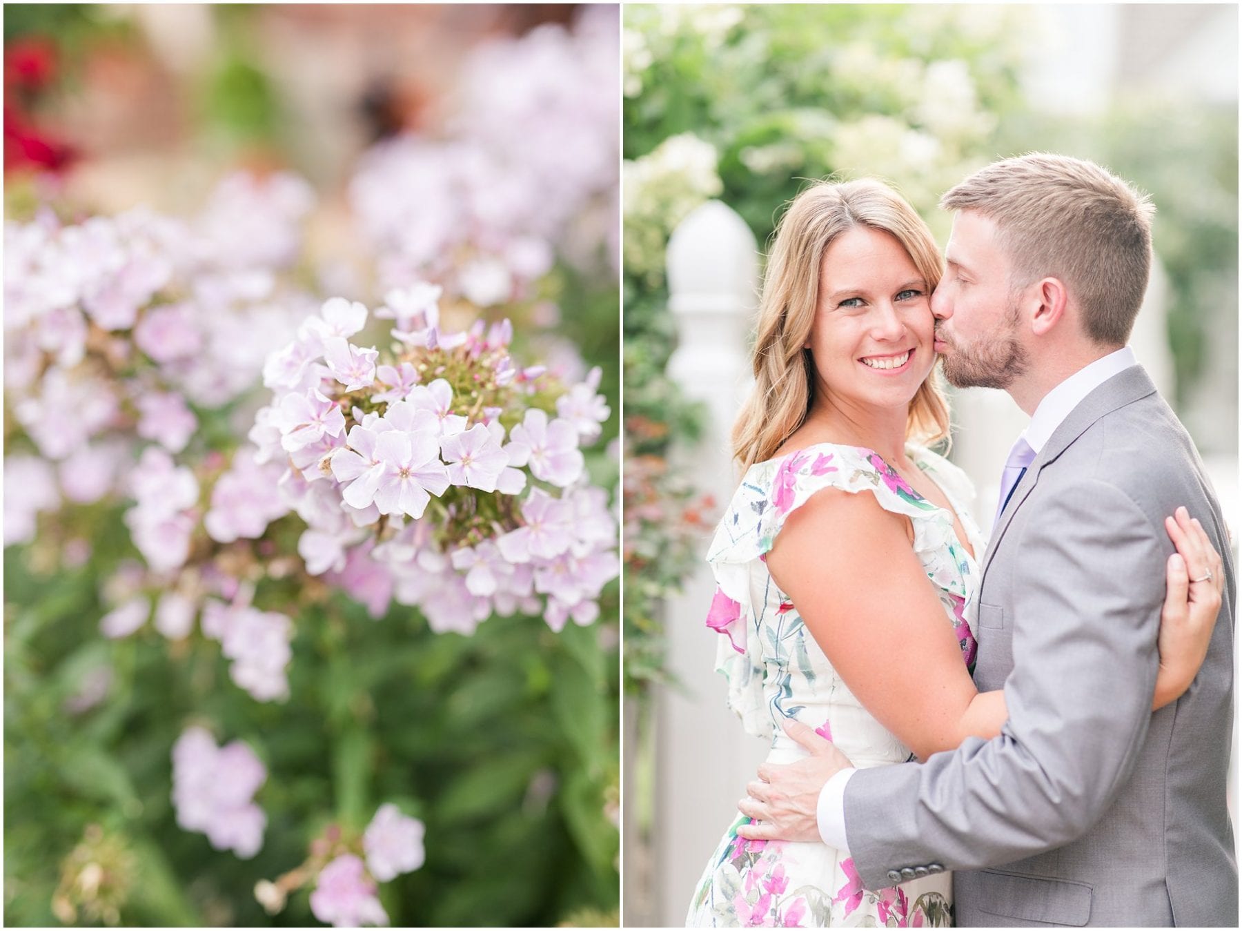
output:
M 719 583 L 708 625 L 728 636 L 729 704 L 773 740 L 770 762 L 801 756 L 774 726 L 785 717 L 862 767 L 989 738 L 1006 720 L 1004 692 L 979 694 L 970 679 L 984 553 L 963 507 L 970 484 L 927 449 L 948 435 L 929 307 L 940 271 L 927 225 L 878 181 L 817 184 L 780 222 L 756 385 L 733 435 L 744 477 L 708 554 Z M 1166 526 L 1184 558 L 1218 562 L 1189 520 Z M 889 541 L 892 559 L 814 589 L 800 563 L 859 534 Z M 1170 563 L 1170 618 L 1186 613 L 1185 572 Z M 888 617 L 877 617 L 877 592 Z M 804 618 L 799 605 L 825 599 L 831 613 Z M 1216 605 L 1161 626 L 1153 709 L 1189 687 Z M 948 874 L 867 891 L 833 848 L 745 840 L 745 820 L 709 860 L 687 925 L 951 924 Z

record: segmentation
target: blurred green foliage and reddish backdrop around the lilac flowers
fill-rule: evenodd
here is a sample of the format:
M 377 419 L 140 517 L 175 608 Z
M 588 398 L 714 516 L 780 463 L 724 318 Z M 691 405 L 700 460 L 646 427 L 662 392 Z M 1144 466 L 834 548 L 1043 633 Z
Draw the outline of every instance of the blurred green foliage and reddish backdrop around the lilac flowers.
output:
M 319 196 L 298 273 L 322 283 L 351 242 L 345 188 L 359 154 L 400 132 L 446 131 L 460 66 L 481 42 L 579 12 L 9 4 L 6 218 L 39 203 L 75 218 L 138 204 L 183 214 L 227 172 L 288 169 Z M 560 314 L 515 321 L 515 358 L 573 343 L 575 364 L 602 367 L 604 436 L 616 438 L 615 272 L 561 261 L 540 287 Z M 235 441 L 217 420 L 204 418 L 207 441 Z M 6 441 L 20 445 L 19 433 L 6 404 Z M 619 456 L 604 446 L 587 467 L 611 491 Z M 214 650 L 101 636 L 101 580 L 137 554 L 122 510 L 66 506 L 5 552 L 7 925 L 314 924 L 308 890 L 273 917 L 255 884 L 302 863 L 329 823 L 358 832 L 386 800 L 426 823 L 425 865 L 381 890 L 394 925 L 616 924 L 616 582 L 597 624 L 560 634 L 529 617 L 432 634 L 411 609 L 376 621 L 332 593 L 296 618 L 292 699 L 257 704 Z M 86 562 L 66 548 L 83 539 Z M 197 721 L 250 741 L 268 768 L 252 860 L 174 823 L 169 751 Z

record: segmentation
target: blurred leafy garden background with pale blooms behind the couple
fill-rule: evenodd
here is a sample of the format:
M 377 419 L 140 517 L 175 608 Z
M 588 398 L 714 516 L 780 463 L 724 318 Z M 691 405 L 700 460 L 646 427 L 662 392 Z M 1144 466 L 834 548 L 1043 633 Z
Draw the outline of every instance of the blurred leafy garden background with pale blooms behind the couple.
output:
M 627 759 L 627 920 L 678 922 L 702 865 L 661 859 L 678 803 L 658 798 L 667 763 L 657 748 L 679 736 L 657 737 L 657 700 L 723 702 L 723 685 L 687 696 L 672 681 L 679 665 L 709 667 L 710 644 L 702 656 L 669 658 L 663 635 L 667 599 L 700 569 L 719 510 L 693 506 L 684 464 L 697 455 L 702 411 L 664 374 L 677 347 L 664 283 L 673 229 L 718 198 L 764 252 L 782 205 L 807 179 L 877 175 L 943 245 L 950 216 L 936 201 L 971 170 L 1032 150 L 1099 162 L 1158 206 L 1169 400 L 1231 507 L 1236 16 L 1236 5 L 1190 4 L 625 7 L 626 740 L 640 750 Z M 673 691 L 662 687 L 671 682 Z M 658 810 L 667 817 L 656 832 Z M 703 856 L 717 837 L 702 842 Z

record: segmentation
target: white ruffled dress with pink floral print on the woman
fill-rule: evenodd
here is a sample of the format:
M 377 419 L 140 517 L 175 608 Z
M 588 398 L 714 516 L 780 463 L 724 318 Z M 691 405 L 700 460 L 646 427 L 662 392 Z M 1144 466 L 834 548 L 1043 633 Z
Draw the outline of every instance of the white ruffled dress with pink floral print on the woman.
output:
M 982 556 L 979 530 L 963 506 L 974 496 L 969 479 L 927 449 L 912 444 L 907 454 L 944 492 L 971 548 Z M 724 635 L 718 669 L 728 677 L 729 707 L 743 726 L 771 741 L 769 762 L 787 763 L 805 756 L 775 726 L 791 717 L 831 738 L 858 768 L 902 763 L 913 758 L 909 748 L 853 696 L 765 563 L 785 518 L 828 487 L 872 493 L 886 511 L 910 518 L 914 552 L 940 595 L 945 620 L 958 634 L 963 661 L 974 665 L 979 568 L 958 541 L 953 515 L 919 496 L 873 450 L 818 444 L 754 465 L 717 528 L 708 562 L 718 590 L 707 623 Z M 712 854 L 687 926 L 953 924 L 950 874 L 864 890 L 853 860 L 842 851 L 820 843 L 739 838 L 737 829 L 746 820 L 738 815 Z

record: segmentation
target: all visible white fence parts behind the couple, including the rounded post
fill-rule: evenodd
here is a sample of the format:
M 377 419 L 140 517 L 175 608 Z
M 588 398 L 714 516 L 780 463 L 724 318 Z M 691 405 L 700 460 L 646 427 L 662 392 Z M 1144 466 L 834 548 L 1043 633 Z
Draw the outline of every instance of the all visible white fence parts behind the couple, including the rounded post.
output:
M 669 311 L 678 331 L 669 375 L 688 398 L 703 401 L 709 414 L 699 446 L 678 455 L 723 510 L 737 485 L 729 429 L 751 382 L 749 339 L 759 280 L 755 239 L 729 206 L 709 201 L 674 231 L 667 267 Z M 1169 397 L 1172 359 L 1165 305 L 1165 280 L 1158 266 L 1131 347 Z M 987 526 L 1009 447 L 1027 418 L 1007 394 L 986 389 L 955 392 L 953 411 L 959 430 L 951 457 L 974 480 L 975 513 Z M 1213 469 L 1217 488 L 1228 500 L 1227 513 L 1235 513 L 1236 470 L 1236 459 Z M 703 553 L 708 542 L 704 534 Z M 652 860 L 643 870 L 652 887 L 642 890 L 641 909 L 650 911 L 643 919 L 653 925 L 683 922 L 703 866 L 768 750 L 765 742 L 746 736 L 724 707 L 725 684 L 713 671 L 719 635 L 704 626 L 714 590 L 704 563 L 687 579 L 682 594 L 667 603 L 668 665 L 684 689 L 662 690 L 657 696 L 655 837 Z M 627 915 L 626 921 L 638 917 Z

